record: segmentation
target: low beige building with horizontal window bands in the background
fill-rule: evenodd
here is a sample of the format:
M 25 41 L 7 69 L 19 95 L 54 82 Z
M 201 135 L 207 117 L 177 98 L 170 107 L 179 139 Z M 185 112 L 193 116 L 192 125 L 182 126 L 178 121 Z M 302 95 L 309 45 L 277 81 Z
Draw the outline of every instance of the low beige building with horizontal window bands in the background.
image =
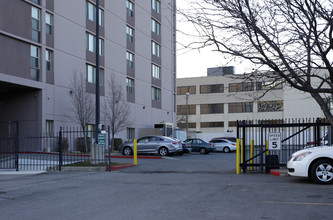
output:
M 185 130 L 188 106 L 190 136 L 196 133 L 235 136 L 236 122 L 243 120 L 324 118 L 309 94 L 282 82 L 214 72 L 206 77 L 177 79 L 177 124 Z

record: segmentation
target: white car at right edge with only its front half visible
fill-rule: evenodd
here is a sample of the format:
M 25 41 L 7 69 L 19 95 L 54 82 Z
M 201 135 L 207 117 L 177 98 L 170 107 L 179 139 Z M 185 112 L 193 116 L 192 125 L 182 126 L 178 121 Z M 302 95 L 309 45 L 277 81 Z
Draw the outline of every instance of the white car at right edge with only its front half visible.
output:
M 287 163 L 290 176 L 312 178 L 317 183 L 333 183 L 333 146 L 306 148 L 291 155 Z

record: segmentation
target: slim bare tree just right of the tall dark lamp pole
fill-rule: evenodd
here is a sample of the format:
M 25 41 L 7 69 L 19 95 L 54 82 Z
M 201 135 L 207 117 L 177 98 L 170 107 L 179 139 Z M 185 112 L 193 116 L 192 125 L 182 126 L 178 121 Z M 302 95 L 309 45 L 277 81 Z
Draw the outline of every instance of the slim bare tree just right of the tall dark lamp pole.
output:
M 131 111 L 124 97 L 123 87 L 111 75 L 108 81 L 109 92 L 105 97 L 105 121 L 111 129 L 111 147 L 113 150 L 115 135 L 132 125 Z

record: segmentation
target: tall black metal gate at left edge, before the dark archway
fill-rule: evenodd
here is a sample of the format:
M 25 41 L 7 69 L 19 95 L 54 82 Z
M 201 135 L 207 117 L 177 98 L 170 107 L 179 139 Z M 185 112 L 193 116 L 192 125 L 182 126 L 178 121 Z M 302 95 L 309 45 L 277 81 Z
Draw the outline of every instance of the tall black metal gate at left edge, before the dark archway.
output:
M 18 122 L 0 121 L 0 169 L 18 169 Z

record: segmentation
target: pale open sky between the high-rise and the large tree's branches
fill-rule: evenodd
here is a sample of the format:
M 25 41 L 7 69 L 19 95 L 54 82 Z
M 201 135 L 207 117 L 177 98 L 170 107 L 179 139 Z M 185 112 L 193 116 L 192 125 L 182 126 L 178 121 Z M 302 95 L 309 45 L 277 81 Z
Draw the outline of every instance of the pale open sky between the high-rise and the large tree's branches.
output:
M 178 9 L 185 9 L 188 6 L 189 0 L 177 1 Z M 177 29 L 185 33 L 194 31 L 192 24 L 185 22 L 180 14 L 177 15 Z M 182 45 L 191 42 L 191 38 L 177 32 L 177 78 L 200 77 L 207 76 L 207 68 L 226 66 L 226 61 L 223 55 L 213 51 L 214 48 L 204 48 L 199 50 L 186 50 Z M 243 73 L 244 66 L 236 63 L 228 64 L 227 66 L 235 66 L 236 73 Z

